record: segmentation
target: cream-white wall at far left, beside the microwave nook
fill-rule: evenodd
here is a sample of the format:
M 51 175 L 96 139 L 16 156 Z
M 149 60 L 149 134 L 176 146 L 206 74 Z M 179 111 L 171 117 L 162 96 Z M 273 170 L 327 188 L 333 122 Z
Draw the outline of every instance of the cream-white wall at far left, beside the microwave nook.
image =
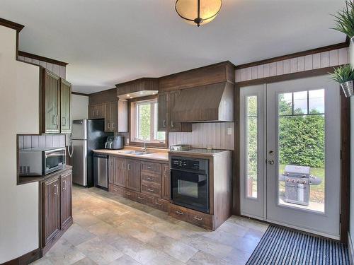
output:
M 16 61 L 16 31 L 0 26 L 0 264 L 37 249 L 38 183 L 16 184 L 16 134 L 39 133 L 39 68 Z

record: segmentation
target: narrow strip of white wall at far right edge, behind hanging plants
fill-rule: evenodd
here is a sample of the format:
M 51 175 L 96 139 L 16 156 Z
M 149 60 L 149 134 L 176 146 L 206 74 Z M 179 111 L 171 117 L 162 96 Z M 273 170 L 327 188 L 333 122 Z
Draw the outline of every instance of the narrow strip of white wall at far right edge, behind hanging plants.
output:
M 350 42 L 349 62 L 354 66 L 354 45 Z M 354 96 L 350 98 L 350 219 L 349 232 L 354 242 Z

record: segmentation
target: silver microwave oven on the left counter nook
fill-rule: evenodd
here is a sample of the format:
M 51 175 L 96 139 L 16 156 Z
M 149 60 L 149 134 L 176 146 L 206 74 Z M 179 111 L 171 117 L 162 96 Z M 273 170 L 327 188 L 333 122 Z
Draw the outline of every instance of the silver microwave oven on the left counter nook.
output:
M 65 165 L 66 150 L 62 148 L 28 148 L 18 151 L 20 176 L 42 176 Z

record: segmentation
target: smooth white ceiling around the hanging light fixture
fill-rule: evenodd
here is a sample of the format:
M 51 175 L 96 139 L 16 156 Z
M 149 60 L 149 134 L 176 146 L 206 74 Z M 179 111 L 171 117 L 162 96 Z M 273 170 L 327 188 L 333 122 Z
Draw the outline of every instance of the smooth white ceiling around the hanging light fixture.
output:
M 24 52 L 66 61 L 73 90 L 93 93 L 141 77 L 159 77 L 232 61 L 245 64 L 336 44 L 329 15 L 344 0 L 223 0 L 197 28 L 174 0 L 1 0 L 0 18 L 25 25 Z

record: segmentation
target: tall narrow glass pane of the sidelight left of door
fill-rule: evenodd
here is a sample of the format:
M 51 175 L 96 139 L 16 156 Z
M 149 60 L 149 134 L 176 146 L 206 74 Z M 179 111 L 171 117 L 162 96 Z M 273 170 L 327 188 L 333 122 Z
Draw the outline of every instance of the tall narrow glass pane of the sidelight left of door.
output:
M 246 194 L 257 198 L 257 96 L 246 99 Z

